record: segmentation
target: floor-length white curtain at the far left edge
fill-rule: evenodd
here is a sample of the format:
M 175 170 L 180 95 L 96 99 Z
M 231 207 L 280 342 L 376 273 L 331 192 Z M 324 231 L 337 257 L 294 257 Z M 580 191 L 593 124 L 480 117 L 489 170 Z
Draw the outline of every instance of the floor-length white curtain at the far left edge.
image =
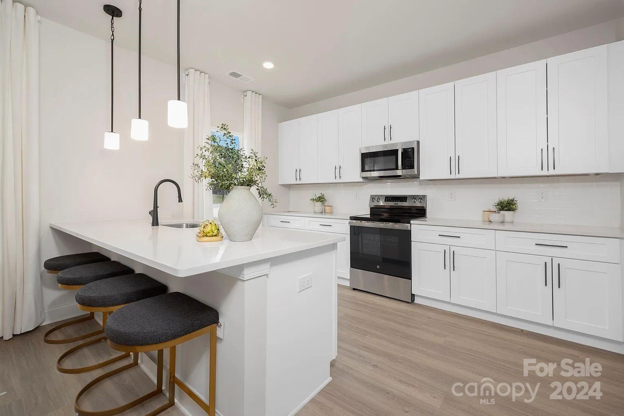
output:
M 39 259 L 39 24 L 0 7 L 0 336 L 44 320 Z

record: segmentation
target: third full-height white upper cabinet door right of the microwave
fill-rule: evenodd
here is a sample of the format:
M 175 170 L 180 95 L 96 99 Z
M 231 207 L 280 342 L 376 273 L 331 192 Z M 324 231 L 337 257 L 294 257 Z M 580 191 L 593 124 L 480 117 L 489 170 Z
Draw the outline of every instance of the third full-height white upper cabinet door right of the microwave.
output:
M 548 173 L 546 60 L 496 73 L 498 175 Z

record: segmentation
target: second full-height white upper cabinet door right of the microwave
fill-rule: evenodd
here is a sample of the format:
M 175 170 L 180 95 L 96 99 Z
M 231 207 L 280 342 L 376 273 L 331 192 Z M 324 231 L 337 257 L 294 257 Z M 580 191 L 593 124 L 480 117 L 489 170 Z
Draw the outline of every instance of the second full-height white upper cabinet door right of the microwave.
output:
M 496 72 L 455 82 L 456 178 L 495 177 Z

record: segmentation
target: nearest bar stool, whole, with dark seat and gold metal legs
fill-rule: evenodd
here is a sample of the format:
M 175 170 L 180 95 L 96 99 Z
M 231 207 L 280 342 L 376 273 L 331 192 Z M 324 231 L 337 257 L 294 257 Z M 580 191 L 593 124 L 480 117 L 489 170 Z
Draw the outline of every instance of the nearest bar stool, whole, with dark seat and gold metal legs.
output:
M 137 404 L 144 402 L 162 392 L 163 350 L 169 349 L 169 394 L 167 403 L 149 413 L 150 416 L 160 414 L 173 406 L 175 402 L 175 385 L 178 385 L 208 415 L 215 416 L 215 383 L 217 380 L 217 323 L 219 313 L 210 306 L 203 304 L 180 292 L 162 294 L 137 301 L 121 307 L 107 321 L 106 336 L 109 346 L 117 351 L 133 352 L 134 360 L 118 369 L 100 375 L 85 385 L 76 395 L 74 409 L 80 416 L 112 416 L 125 412 Z M 210 334 L 210 371 L 208 375 L 208 401 L 188 388 L 182 380 L 175 376 L 175 347 L 204 334 Z M 139 362 L 139 352 L 158 351 L 156 389 L 114 409 L 92 412 L 81 409 L 78 405 L 80 397 L 91 387 L 108 377 L 135 367 Z

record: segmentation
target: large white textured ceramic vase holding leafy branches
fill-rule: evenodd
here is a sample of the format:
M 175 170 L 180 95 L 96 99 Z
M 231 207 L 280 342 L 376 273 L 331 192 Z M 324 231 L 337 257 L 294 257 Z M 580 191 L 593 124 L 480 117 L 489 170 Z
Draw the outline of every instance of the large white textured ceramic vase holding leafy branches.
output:
M 219 208 L 219 222 L 230 241 L 250 241 L 262 222 L 262 207 L 250 186 L 234 186 Z

